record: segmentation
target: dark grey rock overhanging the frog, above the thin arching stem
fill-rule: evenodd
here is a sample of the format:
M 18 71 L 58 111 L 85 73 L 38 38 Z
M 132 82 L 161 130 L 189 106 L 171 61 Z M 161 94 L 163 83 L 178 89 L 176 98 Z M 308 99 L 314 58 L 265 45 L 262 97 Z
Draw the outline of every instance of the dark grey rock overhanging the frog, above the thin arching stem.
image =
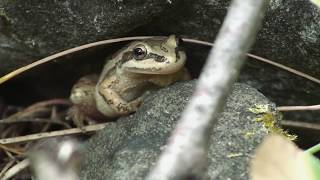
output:
M 213 41 L 229 4 L 213 0 L 0 0 L 0 55 L 44 56 L 123 36 L 139 27 L 136 32 L 144 35 L 175 33 Z M 271 0 L 254 52 L 320 77 L 320 68 L 315 68 L 320 66 L 319 29 L 319 9 L 309 0 Z M 1 56 L 0 60 L 10 61 Z

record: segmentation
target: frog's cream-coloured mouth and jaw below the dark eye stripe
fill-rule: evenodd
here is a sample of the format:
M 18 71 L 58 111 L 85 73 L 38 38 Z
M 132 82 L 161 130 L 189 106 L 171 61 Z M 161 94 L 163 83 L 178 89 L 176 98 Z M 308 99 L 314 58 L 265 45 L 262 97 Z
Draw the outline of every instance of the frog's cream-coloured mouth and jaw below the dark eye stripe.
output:
M 176 58 L 179 59 L 176 59 Z M 157 62 L 154 59 L 144 59 L 143 61 L 128 61 L 123 64 L 125 71 L 139 74 L 171 74 L 179 71 L 186 62 L 186 54 L 179 51 L 179 56 L 171 60 Z

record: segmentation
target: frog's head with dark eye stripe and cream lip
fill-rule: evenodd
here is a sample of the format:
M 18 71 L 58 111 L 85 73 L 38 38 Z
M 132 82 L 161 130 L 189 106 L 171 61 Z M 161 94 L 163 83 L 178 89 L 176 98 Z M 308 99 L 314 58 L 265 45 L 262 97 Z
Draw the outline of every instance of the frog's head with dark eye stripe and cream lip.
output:
M 186 54 L 179 47 L 180 41 L 175 35 L 165 39 L 135 41 L 119 57 L 121 69 L 141 74 L 177 72 L 186 61 Z

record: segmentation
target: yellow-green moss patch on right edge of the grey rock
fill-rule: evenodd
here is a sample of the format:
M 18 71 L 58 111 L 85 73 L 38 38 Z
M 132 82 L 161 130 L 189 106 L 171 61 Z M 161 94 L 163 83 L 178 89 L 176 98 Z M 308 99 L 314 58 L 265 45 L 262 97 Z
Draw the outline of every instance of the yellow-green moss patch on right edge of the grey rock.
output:
M 269 131 L 269 133 L 280 134 L 290 140 L 295 140 L 297 138 L 296 135 L 289 134 L 287 131 L 278 126 L 276 123 L 277 115 L 275 112 L 270 110 L 270 106 L 268 104 L 255 105 L 255 107 L 249 108 L 249 111 L 258 115 L 254 121 L 263 123 L 263 126 Z

